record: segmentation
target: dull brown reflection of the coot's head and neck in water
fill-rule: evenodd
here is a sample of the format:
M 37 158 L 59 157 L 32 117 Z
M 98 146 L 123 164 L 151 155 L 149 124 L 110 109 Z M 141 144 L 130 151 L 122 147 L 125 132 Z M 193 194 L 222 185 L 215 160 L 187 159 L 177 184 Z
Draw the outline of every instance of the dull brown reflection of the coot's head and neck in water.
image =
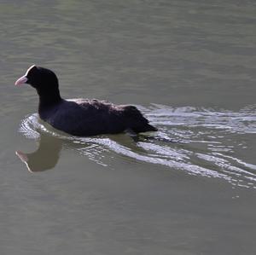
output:
M 28 171 L 45 171 L 54 168 L 61 154 L 62 141 L 55 136 L 41 133 L 38 149 L 30 154 L 16 151 Z

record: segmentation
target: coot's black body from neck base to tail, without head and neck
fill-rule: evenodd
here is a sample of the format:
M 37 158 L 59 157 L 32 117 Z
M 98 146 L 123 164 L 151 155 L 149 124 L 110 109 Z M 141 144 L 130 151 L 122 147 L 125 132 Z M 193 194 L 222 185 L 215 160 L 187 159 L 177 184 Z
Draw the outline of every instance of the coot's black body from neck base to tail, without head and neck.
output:
M 116 134 L 127 129 L 136 133 L 156 130 L 133 106 L 116 106 L 107 101 L 63 100 L 40 117 L 58 130 L 75 136 Z

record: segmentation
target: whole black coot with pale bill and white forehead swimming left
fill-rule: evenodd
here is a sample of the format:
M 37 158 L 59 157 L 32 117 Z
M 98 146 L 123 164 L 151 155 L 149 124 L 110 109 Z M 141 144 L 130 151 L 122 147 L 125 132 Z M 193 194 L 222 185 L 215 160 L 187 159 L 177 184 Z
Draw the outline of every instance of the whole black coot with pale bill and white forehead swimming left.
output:
M 61 98 L 55 72 L 33 65 L 15 85 L 31 84 L 38 92 L 38 113 L 41 119 L 57 130 L 74 136 L 155 131 L 137 107 L 114 105 L 96 99 Z

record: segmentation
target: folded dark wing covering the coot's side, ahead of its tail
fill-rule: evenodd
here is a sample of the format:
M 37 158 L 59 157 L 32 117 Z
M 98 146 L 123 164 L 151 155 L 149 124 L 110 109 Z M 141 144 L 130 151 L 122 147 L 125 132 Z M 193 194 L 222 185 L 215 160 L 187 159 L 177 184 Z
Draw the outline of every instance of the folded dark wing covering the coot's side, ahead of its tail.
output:
M 64 101 L 49 124 L 75 136 L 93 136 L 124 130 L 121 116 L 121 109 L 107 101 L 75 99 Z

